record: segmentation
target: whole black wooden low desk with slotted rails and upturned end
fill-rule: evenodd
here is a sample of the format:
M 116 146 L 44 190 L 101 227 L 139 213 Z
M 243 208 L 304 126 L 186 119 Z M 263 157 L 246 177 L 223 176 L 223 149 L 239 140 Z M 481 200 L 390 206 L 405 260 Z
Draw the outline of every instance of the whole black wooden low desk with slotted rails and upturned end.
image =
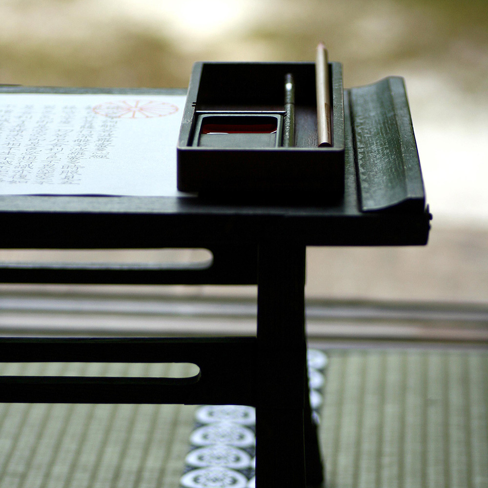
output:
M 2 362 L 188 362 L 198 365 L 200 374 L 179 379 L 2 377 L 0 401 L 252 405 L 258 488 L 319 484 L 322 468 L 305 370 L 305 247 L 421 245 L 429 232 L 403 84 L 388 79 L 348 90 L 345 107 L 345 195 L 339 203 L 1 196 L 2 248 L 203 247 L 214 256 L 204 269 L 2 264 L 3 283 L 257 284 L 258 321 L 257 335 L 244 338 L 3 338 Z M 387 171 L 383 178 L 384 166 L 392 163 L 396 175 Z M 368 165 L 374 168 L 369 171 Z M 280 427 L 283 422 L 287 429 Z M 283 455 L 273 453 L 275 446 Z

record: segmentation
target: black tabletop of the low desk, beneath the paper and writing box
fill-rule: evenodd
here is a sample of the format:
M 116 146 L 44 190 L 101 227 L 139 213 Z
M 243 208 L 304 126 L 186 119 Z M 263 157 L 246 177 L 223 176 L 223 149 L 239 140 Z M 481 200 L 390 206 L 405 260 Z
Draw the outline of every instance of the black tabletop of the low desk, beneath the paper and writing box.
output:
M 360 140 L 358 134 L 367 132 L 359 126 L 368 122 L 360 112 L 374 111 L 374 107 L 371 109 L 364 104 L 364 100 L 371 98 L 371 89 L 380 96 L 385 90 L 393 93 L 393 99 L 396 92 L 401 92 L 397 79 L 386 81 L 388 86 L 382 85 L 381 89 L 376 84 L 345 90 L 346 174 L 344 198 L 340 202 L 227 203 L 203 200 L 198 196 L 2 195 L 0 225 L 3 232 L 0 246 L 197 247 L 205 244 L 259 244 L 270 239 L 277 242 L 284 239 L 304 245 L 426 244 L 430 214 L 425 203 L 421 175 L 421 188 L 417 184 L 416 190 L 407 194 L 400 204 L 368 208 L 365 200 L 367 187 L 362 181 L 364 168 L 361 167 L 365 151 L 361 151 L 361 148 L 358 151 L 357 144 Z M 0 92 L 181 95 L 185 90 L 1 87 Z M 405 138 L 401 134 L 400 137 Z M 371 138 L 374 138 L 374 134 L 370 135 Z M 415 144 L 414 139 L 411 143 Z M 370 148 L 370 154 L 375 155 L 374 148 Z

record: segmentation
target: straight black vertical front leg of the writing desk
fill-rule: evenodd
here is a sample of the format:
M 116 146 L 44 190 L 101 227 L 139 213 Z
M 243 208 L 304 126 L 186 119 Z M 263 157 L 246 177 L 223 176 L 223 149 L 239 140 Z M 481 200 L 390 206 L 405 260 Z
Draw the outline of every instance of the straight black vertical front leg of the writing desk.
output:
M 305 247 L 260 246 L 256 488 L 305 487 Z

